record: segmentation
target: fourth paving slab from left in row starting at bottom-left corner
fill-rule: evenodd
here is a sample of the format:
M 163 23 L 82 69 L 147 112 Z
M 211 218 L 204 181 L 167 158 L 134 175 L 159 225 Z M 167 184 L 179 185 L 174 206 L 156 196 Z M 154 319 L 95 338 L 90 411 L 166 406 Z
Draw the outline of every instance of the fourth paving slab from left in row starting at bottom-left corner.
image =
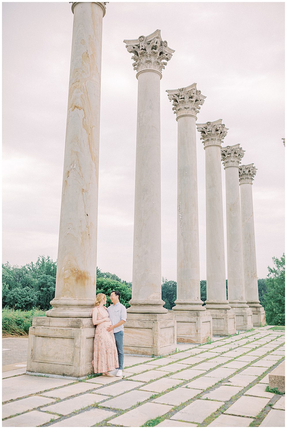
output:
M 170 419 L 202 423 L 206 417 L 218 410 L 221 405 L 224 405 L 224 402 L 196 399 L 194 402 L 191 402 L 191 404 L 171 416 Z

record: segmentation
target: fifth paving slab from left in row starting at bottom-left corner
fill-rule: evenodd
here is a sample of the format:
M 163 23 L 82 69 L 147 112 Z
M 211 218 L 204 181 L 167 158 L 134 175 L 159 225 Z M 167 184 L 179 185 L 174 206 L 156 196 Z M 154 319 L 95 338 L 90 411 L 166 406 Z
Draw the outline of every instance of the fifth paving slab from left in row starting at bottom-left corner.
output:
M 269 398 L 257 398 L 253 396 L 252 400 L 248 396 L 241 396 L 233 405 L 224 411 L 224 414 L 235 414 L 244 417 L 256 417 L 257 414 L 268 404 Z

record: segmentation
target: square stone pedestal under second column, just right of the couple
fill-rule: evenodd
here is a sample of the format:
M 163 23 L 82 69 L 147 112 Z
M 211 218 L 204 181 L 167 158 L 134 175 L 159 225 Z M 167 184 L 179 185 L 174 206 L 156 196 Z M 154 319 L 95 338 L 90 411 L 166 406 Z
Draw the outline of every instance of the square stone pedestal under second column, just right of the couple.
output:
M 165 314 L 128 313 L 123 336 L 124 353 L 160 356 L 176 349 L 173 311 Z

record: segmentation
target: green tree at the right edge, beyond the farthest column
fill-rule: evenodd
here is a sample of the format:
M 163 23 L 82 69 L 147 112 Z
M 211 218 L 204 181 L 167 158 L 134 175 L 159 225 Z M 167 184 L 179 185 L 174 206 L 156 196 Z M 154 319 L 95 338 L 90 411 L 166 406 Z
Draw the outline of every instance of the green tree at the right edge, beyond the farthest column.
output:
M 263 306 L 266 322 L 270 325 L 285 324 L 285 254 L 281 258 L 272 258 L 274 268 L 268 267 L 266 293 L 263 295 Z

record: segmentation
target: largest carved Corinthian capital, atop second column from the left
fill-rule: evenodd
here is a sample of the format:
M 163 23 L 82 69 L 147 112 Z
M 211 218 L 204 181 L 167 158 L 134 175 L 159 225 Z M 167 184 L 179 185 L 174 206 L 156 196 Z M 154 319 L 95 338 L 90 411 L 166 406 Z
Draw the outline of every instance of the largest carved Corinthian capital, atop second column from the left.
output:
M 174 52 L 167 46 L 167 41 L 161 39 L 161 31 L 156 30 L 149 36 L 139 36 L 138 39 L 124 40 L 128 52 L 134 54 L 133 67 L 137 72 L 152 70 L 160 73 L 167 65 Z

